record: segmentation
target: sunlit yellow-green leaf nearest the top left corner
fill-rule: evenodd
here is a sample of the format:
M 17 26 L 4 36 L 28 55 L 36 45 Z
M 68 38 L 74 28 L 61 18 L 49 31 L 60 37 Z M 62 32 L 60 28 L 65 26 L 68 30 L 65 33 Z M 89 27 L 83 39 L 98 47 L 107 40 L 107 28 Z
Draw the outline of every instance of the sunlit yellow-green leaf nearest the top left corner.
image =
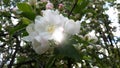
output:
M 17 7 L 23 12 L 33 12 L 32 7 L 27 3 L 18 3 Z

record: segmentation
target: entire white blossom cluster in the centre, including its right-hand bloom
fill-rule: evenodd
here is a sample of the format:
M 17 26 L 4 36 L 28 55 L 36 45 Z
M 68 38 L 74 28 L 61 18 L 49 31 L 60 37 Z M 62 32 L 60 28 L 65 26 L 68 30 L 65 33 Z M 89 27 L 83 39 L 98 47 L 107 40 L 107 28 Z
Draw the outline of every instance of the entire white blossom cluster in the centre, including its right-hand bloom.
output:
M 61 43 L 67 35 L 79 33 L 80 21 L 68 19 L 58 10 L 44 10 L 42 16 L 36 16 L 35 22 L 26 27 L 28 36 L 23 39 L 32 42 L 32 47 L 38 54 L 49 50 L 49 40 Z

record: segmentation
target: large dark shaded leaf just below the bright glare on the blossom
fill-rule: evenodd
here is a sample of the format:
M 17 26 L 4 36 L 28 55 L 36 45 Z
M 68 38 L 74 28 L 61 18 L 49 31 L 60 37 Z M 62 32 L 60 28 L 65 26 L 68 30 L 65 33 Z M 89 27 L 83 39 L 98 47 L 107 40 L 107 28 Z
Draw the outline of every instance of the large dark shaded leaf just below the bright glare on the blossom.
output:
M 58 56 L 72 58 L 80 61 L 80 54 L 72 45 L 61 45 L 55 48 L 54 53 Z

